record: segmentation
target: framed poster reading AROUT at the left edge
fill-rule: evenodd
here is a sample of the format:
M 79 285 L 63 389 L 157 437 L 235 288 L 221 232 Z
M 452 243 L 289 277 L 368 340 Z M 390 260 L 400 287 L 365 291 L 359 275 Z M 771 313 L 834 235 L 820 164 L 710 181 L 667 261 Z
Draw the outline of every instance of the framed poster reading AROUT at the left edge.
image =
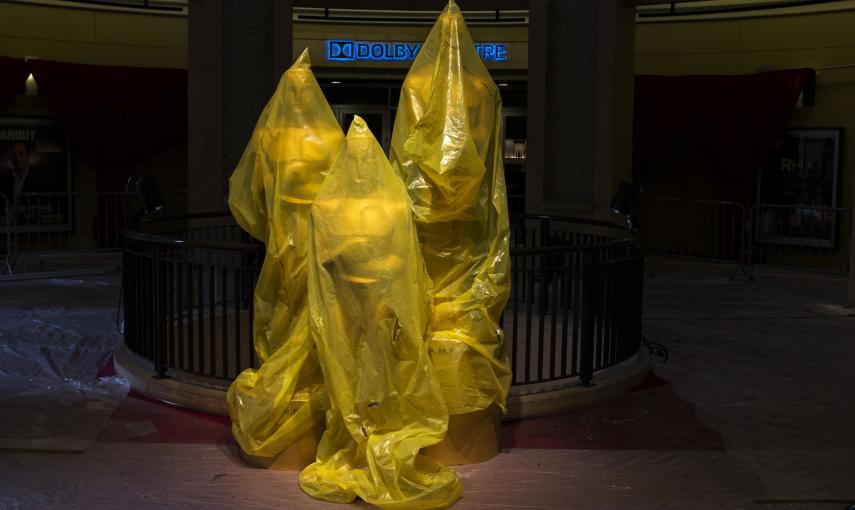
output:
M 0 228 L 71 229 L 71 158 L 65 134 L 48 119 L 0 119 Z

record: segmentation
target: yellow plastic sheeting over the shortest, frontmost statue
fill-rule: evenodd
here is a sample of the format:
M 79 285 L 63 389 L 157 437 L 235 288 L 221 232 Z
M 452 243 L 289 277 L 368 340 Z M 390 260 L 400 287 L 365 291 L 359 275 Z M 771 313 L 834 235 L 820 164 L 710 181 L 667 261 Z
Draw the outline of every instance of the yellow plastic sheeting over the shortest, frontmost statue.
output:
M 310 327 L 330 407 L 300 485 L 340 503 L 451 505 L 457 477 L 419 453 L 448 427 L 424 337 L 429 280 L 404 186 L 360 117 L 312 206 L 309 237 Z

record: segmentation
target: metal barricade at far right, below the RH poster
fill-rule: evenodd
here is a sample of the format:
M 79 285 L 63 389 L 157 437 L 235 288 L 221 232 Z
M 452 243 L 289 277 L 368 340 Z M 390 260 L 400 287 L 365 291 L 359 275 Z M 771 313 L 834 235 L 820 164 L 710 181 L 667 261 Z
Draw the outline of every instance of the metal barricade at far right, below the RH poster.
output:
M 753 210 L 757 264 L 847 274 L 852 209 L 758 204 Z

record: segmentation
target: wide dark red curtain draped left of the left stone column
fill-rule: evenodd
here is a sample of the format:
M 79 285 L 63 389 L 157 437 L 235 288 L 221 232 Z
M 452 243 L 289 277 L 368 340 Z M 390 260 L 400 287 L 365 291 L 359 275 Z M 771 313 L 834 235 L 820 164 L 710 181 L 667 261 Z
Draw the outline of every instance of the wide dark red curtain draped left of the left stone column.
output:
M 36 60 L 33 76 L 101 190 L 111 175 L 187 142 L 187 71 Z

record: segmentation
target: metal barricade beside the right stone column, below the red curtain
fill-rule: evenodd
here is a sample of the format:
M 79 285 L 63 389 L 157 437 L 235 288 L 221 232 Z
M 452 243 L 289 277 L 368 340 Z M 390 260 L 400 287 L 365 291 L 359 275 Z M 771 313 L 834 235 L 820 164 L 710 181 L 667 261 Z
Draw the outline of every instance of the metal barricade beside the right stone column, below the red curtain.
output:
M 750 264 L 740 203 L 642 197 L 640 227 L 647 253 Z

